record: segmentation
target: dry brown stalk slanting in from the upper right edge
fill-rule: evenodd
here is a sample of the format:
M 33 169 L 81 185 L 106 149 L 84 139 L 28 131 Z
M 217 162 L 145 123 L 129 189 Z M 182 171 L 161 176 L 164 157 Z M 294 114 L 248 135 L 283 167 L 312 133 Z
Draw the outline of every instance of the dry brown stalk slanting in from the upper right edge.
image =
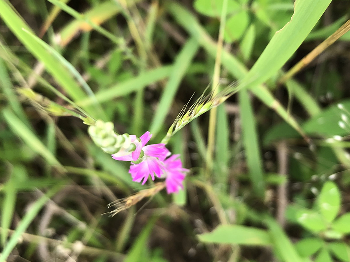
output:
M 325 39 L 321 44 L 317 45 L 314 50 L 304 56 L 298 63 L 286 72 L 278 82 L 284 83 L 288 79 L 292 78 L 297 72 L 301 71 L 304 67 L 311 63 L 318 55 L 320 55 L 325 49 L 342 37 L 346 32 L 350 30 L 350 20 L 346 21 L 337 31 L 331 36 Z

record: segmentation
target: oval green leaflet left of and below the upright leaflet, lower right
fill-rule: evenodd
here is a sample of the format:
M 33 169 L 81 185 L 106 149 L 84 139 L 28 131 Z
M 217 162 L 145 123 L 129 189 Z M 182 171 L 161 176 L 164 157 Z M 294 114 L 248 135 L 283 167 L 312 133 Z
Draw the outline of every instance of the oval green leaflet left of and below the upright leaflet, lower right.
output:
M 299 210 L 296 214 L 296 220 L 300 225 L 313 233 L 318 233 L 327 229 L 324 218 L 314 210 Z

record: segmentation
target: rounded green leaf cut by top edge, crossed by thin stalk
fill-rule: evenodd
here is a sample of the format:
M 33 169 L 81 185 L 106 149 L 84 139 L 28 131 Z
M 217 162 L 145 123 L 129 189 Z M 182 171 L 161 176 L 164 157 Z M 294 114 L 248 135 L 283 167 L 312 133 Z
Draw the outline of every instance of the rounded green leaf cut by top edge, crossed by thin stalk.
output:
M 203 15 L 220 17 L 224 0 L 196 0 L 194 8 Z M 241 7 L 234 0 L 227 2 L 227 14 L 237 12 Z

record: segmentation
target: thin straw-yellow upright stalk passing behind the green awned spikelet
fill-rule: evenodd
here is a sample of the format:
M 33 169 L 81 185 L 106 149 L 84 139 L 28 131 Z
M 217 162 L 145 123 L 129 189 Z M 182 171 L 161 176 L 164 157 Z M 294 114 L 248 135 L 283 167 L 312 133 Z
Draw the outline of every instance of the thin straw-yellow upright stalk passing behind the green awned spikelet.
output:
M 218 93 L 219 89 L 219 81 L 220 81 L 220 67 L 221 67 L 221 55 L 222 55 L 222 47 L 223 47 L 223 38 L 224 38 L 224 30 L 226 24 L 226 13 L 227 13 L 227 3 L 228 0 L 223 1 L 222 12 L 220 17 L 220 28 L 219 28 L 219 36 L 217 42 L 217 51 L 215 58 L 215 66 L 214 66 L 214 75 L 213 75 L 213 83 L 212 83 L 212 92 L 213 96 Z M 215 130 L 216 130 L 216 107 L 210 111 L 209 114 L 209 129 L 208 129 L 208 147 L 207 147 L 207 156 L 206 156 L 206 166 L 205 166 L 205 176 L 208 177 L 212 168 L 213 168 L 213 154 L 214 154 L 214 144 L 215 144 Z

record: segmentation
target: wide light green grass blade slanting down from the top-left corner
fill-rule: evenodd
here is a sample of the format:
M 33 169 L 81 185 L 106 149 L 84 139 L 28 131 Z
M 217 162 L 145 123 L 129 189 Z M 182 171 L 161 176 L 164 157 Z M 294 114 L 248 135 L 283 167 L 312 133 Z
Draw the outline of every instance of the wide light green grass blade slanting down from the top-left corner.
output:
M 8 28 L 15 34 L 23 45 L 47 68 L 55 80 L 72 97 L 73 100 L 81 100 L 85 97 L 82 89 L 74 81 L 70 73 L 60 64 L 53 54 L 45 50 L 33 37 L 29 36 L 23 29 L 31 32 L 22 18 L 10 7 L 5 0 L 0 0 L 0 16 Z

